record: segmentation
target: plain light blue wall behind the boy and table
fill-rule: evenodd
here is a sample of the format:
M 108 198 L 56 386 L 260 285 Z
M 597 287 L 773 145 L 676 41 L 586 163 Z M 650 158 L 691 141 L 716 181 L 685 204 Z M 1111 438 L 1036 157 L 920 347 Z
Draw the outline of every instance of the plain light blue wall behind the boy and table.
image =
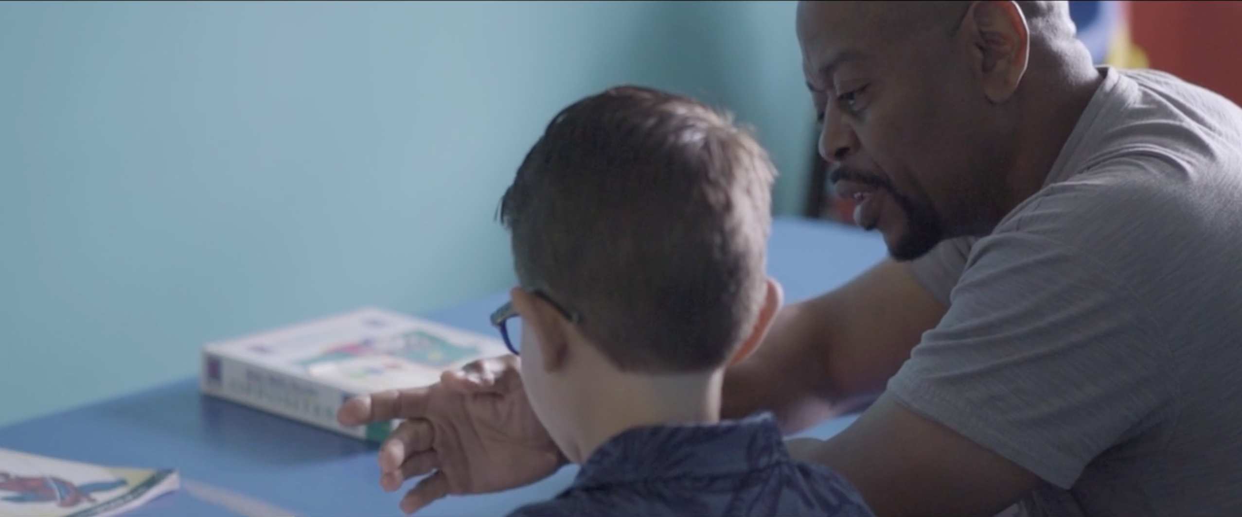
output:
M 498 197 L 558 109 L 614 83 L 733 108 L 799 210 L 792 16 L 0 4 L 0 424 L 194 376 L 209 340 L 507 286 Z

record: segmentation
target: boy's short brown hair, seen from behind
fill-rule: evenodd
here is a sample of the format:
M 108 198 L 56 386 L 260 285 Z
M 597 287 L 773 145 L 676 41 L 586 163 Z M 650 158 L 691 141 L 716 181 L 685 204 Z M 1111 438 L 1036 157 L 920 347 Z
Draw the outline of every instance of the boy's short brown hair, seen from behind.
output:
M 758 317 L 775 167 L 732 117 L 617 87 L 561 110 L 501 202 L 518 279 L 619 368 L 722 366 Z

